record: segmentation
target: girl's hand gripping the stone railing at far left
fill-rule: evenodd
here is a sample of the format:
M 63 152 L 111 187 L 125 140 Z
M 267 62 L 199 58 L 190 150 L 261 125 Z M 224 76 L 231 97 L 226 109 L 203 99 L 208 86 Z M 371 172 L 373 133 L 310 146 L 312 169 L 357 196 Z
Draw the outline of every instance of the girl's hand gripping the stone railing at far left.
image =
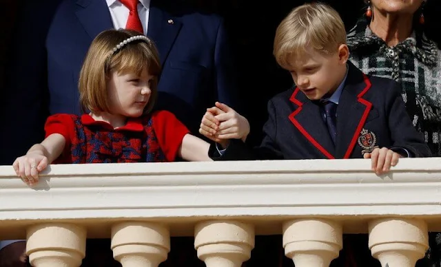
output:
M 17 158 L 12 167 L 21 180 L 32 186 L 39 181 L 39 172 L 48 166 L 48 158 L 40 153 L 28 153 Z

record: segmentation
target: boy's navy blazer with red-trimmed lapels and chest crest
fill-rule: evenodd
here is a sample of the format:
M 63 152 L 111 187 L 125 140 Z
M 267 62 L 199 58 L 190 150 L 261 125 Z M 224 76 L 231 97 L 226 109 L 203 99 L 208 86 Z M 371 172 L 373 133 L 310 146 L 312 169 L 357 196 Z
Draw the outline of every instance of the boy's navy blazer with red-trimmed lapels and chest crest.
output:
M 404 148 L 413 157 L 431 156 L 422 133 L 407 115 L 400 85 L 387 78 L 367 76 L 349 63 L 345 87 L 337 107 L 336 145 L 322 118 L 320 107 L 294 87 L 268 103 L 269 118 L 260 147 L 249 149 L 232 140 L 214 160 L 362 158 L 374 147 Z

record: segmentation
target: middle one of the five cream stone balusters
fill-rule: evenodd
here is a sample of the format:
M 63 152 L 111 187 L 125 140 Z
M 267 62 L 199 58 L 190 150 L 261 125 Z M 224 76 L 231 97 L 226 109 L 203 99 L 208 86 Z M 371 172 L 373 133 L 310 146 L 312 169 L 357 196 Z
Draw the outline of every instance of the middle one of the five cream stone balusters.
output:
M 196 225 L 194 247 L 207 267 L 240 267 L 251 257 L 254 226 L 235 221 Z

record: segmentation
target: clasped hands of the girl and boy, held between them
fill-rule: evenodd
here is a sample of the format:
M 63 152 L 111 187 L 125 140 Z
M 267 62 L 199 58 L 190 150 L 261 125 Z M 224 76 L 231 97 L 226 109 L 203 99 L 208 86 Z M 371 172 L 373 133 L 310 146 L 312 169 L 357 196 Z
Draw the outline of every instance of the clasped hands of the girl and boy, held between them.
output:
M 248 120 L 234 109 L 216 102 L 203 116 L 199 133 L 211 140 L 241 139 L 245 142 L 249 133 Z

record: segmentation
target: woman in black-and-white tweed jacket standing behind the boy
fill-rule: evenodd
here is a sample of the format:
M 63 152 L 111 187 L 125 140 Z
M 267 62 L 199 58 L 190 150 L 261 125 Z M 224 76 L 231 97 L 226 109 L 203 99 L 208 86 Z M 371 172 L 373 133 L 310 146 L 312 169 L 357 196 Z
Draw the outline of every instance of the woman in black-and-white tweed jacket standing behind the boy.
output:
M 441 156 L 441 52 L 422 31 L 426 1 L 367 1 L 368 11 L 347 34 L 347 44 L 360 70 L 401 84 L 413 125 L 433 156 Z M 429 233 L 429 242 L 418 267 L 441 266 L 441 233 Z

